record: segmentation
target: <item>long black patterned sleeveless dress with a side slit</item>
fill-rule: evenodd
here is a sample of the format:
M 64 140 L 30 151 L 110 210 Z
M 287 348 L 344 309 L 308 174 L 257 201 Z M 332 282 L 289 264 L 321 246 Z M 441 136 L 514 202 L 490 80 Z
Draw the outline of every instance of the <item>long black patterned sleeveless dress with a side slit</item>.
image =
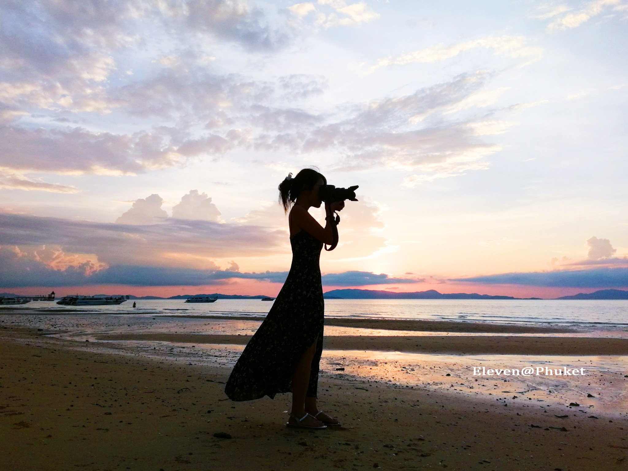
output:
M 323 352 L 325 303 L 320 278 L 323 243 L 301 230 L 290 238 L 292 265 L 266 319 L 234 366 L 225 393 L 232 401 L 251 401 L 292 391 L 292 374 L 317 340 L 306 396 L 315 398 Z

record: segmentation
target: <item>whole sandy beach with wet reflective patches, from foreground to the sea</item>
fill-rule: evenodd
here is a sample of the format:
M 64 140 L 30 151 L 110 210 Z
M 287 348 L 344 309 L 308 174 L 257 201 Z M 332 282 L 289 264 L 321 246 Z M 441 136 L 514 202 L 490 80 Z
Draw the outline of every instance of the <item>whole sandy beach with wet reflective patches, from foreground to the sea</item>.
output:
M 517 337 L 512 328 L 482 336 L 469 326 L 468 335 L 417 335 L 418 353 L 395 330 L 366 340 L 330 335 L 319 406 L 343 426 L 305 431 L 284 425 L 290 394 L 244 403 L 224 394 L 248 338 L 236 332 L 253 330 L 250 320 L 204 320 L 222 334 L 177 336 L 160 332 L 158 318 L 153 328 L 82 335 L 69 324 L 28 327 L 27 318 L 0 317 L 3 470 L 594 470 L 628 463 L 624 338 L 553 339 L 558 334 L 540 330 Z M 138 332 L 147 329 L 153 332 Z M 517 338 L 528 350 L 512 347 Z M 552 350 L 551 340 L 563 345 Z M 448 342 L 458 347 L 425 354 Z M 456 354 L 465 345 L 476 345 L 478 355 Z M 475 364 L 560 362 L 586 365 L 587 375 L 472 374 Z

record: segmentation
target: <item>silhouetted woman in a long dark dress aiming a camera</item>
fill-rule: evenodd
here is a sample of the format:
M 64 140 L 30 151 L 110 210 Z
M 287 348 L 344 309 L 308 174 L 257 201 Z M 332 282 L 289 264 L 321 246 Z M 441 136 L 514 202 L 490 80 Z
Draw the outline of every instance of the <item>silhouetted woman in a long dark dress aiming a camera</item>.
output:
M 292 409 L 286 425 L 327 428 L 340 425 L 317 406 L 318 369 L 323 351 L 325 303 L 320 278 L 323 244 L 338 242 L 334 212 L 344 202 L 325 203 L 325 227 L 308 213 L 320 208 L 323 175 L 305 168 L 279 185 L 279 202 L 288 215 L 292 265 L 273 307 L 237 360 L 225 393 L 233 401 L 250 401 L 276 393 L 292 392 Z

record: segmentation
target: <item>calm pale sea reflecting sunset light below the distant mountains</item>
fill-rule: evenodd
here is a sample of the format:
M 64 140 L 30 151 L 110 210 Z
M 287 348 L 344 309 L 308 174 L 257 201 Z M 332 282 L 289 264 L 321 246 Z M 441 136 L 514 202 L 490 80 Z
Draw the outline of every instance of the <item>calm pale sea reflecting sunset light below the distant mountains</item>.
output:
M 33 301 L 13 310 L 76 310 L 82 313 L 133 315 L 207 315 L 262 317 L 272 301 L 218 300 L 215 303 L 185 303 L 183 300 L 133 300 L 117 306 L 59 306 Z M 0 313 L 2 312 L 0 308 Z M 628 301 L 546 300 L 325 300 L 327 317 L 427 319 L 514 323 L 628 325 Z

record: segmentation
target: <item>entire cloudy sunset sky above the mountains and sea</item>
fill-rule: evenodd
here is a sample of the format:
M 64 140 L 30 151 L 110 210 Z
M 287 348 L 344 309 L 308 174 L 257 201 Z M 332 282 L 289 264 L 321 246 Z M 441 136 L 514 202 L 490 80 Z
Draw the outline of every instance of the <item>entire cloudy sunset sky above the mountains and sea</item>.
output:
M 628 0 L 5 0 L 0 291 L 628 289 Z M 311 208 L 318 220 L 322 209 Z

